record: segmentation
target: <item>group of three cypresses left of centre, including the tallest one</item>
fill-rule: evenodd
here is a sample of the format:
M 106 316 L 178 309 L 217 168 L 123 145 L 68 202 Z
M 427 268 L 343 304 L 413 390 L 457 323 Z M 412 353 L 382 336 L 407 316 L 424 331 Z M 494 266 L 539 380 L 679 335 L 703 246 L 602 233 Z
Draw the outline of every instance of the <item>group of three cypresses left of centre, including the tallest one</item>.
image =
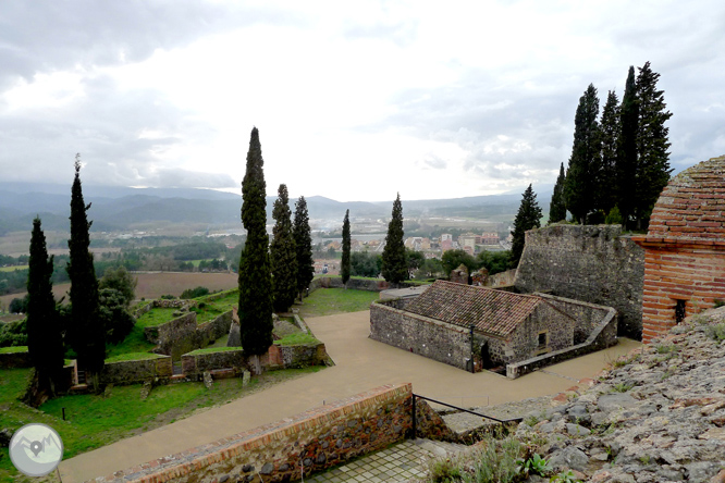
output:
M 296 294 L 302 298 L 315 275 L 307 202 L 299 197 L 293 223 L 284 184 L 280 185 L 274 201 L 274 238 L 269 243 L 263 164 L 259 131 L 255 127 L 242 182 L 242 223 L 247 240 L 239 259 L 238 317 L 242 347 L 253 356 L 256 373 L 261 372 L 259 356 L 272 344 L 273 311 L 286 311 Z

